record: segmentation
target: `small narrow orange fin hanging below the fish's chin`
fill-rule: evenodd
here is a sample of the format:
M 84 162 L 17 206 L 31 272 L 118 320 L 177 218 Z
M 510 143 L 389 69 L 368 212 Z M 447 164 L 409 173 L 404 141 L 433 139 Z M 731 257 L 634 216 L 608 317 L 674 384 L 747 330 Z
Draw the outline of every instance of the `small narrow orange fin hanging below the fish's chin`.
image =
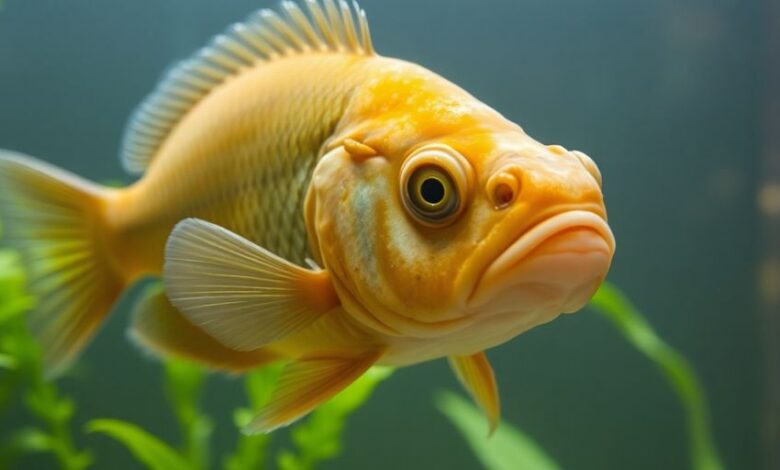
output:
M 487 416 L 489 434 L 493 434 L 501 417 L 501 406 L 496 377 L 487 356 L 480 352 L 471 356 L 450 356 L 449 361 L 460 383 Z

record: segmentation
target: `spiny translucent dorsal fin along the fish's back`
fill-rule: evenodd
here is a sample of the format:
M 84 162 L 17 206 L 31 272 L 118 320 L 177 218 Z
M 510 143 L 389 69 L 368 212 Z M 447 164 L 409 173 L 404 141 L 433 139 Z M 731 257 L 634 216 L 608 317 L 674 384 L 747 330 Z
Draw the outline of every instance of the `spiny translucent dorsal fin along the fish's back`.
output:
M 170 69 L 130 117 L 120 152 L 125 170 L 143 173 L 176 124 L 243 70 L 310 52 L 374 54 L 366 13 L 356 2 L 302 1 L 308 13 L 291 1 L 283 1 L 279 13 L 257 11 Z

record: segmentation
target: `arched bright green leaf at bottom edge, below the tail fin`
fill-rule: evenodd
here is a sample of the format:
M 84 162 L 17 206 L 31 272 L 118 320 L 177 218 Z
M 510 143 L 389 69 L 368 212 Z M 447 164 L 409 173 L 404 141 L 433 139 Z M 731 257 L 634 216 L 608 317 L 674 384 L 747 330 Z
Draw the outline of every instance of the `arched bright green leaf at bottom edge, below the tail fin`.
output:
M 87 432 L 113 437 L 151 470 L 191 470 L 183 456 L 135 424 L 115 419 L 96 419 L 87 423 Z

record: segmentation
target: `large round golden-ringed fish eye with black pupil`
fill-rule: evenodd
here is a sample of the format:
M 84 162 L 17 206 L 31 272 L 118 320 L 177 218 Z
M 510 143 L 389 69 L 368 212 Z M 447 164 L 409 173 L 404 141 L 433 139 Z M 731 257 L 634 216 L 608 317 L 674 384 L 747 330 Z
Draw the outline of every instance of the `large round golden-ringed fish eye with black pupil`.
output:
M 443 145 L 427 147 L 407 159 L 401 169 L 402 199 L 417 221 L 441 227 L 461 213 L 470 175 L 463 160 Z

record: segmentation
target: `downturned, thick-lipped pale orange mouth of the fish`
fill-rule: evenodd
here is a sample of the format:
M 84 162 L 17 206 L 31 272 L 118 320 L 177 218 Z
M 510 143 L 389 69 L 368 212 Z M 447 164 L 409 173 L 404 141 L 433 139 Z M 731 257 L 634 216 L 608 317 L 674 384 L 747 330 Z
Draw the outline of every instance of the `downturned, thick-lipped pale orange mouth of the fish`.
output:
M 604 280 L 615 238 L 604 218 L 585 210 L 549 217 L 501 252 L 469 298 L 470 310 L 490 314 L 571 313 Z

